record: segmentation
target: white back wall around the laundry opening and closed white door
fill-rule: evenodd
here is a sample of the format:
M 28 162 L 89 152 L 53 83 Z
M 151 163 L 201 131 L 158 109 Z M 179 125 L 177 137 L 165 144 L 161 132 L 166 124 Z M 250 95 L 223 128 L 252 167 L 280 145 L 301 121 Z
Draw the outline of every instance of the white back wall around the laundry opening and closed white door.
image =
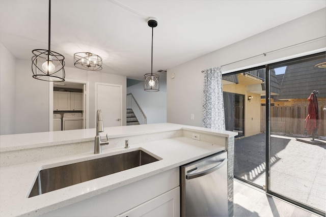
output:
M 3 49 L 2 49 L 3 50 Z M 0 57 L 2 61 L 7 61 L 3 56 Z M 49 82 L 34 79 L 32 77 L 32 62 L 30 60 L 16 59 L 16 67 L 11 66 L 10 71 L 2 70 L 1 76 L 9 76 L 11 73 L 15 76 L 16 81 L 12 81 L 13 86 L 16 87 L 15 94 L 10 97 L 1 97 L 1 105 L 12 104 L 14 100 L 16 106 L 12 111 L 2 110 L 1 126 L 7 126 L 8 121 L 3 121 L 3 116 L 8 114 L 15 119 L 15 131 L 8 134 L 17 133 L 34 133 L 49 131 Z M 5 64 L 1 64 L 2 66 Z M 16 70 L 15 70 L 16 68 Z M 119 84 L 122 85 L 123 96 L 123 111 L 126 111 L 126 77 L 120 75 L 112 75 L 105 72 L 103 69 L 100 72 L 91 72 L 77 68 L 65 67 L 66 79 L 89 81 L 89 123 L 90 128 L 95 128 L 95 82 Z M 4 74 L 4 75 L 3 75 Z M 5 89 L 3 86 L 3 79 L 1 79 L 1 90 Z M 6 91 L 5 91 L 6 92 Z M 4 94 L 5 94 L 4 92 Z M 8 92 L 8 91 L 7 91 Z M 3 95 L 3 91 L 1 93 Z M 1 96 L 2 96 L 1 95 Z M 13 106 L 11 106 L 13 107 Z M 123 124 L 126 122 L 126 113 L 122 116 Z

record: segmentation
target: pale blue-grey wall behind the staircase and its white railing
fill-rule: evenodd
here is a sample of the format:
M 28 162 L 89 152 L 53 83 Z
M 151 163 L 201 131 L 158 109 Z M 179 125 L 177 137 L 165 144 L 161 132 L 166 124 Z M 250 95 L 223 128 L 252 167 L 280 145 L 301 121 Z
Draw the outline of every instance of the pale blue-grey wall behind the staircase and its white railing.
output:
M 159 91 L 144 90 L 144 83 L 127 87 L 127 94 L 132 93 L 147 117 L 147 123 L 167 122 L 167 85 L 166 74 L 159 74 Z

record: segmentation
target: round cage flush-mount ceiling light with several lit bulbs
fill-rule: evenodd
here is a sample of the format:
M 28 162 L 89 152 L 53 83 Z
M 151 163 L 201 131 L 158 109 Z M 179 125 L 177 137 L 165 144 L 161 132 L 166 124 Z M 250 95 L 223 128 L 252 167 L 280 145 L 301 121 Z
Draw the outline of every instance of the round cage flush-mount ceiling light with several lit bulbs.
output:
M 78 69 L 98 71 L 102 69 L 102 58 L 94 53 L 75 53 L 73 54 L 74 65 Z

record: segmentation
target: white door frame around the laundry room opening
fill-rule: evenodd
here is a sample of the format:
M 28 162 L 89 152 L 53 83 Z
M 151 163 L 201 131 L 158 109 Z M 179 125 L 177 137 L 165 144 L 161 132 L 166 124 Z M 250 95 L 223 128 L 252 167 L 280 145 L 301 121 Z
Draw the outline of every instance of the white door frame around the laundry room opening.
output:
M 70 83 L 79 83 L 79 84 L 84 84 L 86 86 L 83 94 L 85 97 L 85 102 L 83 102 L 83 107 L 85 106 L 85 113 L 84 116 L 84 121 L 85 121 L 85 129 L 90 128 L 90 121 L 89 121 L 89 107 L 90 107 L 90 100 L 89 100 L 89 81 L 82 81 L 82 80 L 73 80 L 73 79 L 65 79 L 65 81 L 70 82 Z M 83 98 L 84 98 L 83 97 Z M 53 131 L 53 82 L 49 82 L 49 131 Z

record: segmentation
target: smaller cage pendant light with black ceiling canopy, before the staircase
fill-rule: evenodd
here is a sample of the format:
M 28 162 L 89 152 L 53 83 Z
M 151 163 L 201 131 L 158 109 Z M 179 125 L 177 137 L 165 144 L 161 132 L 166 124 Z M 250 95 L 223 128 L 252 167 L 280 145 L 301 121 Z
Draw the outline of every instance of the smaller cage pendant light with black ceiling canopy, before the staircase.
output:
M 150 17 L 147 21 L 148 26 L 152 28 L 152 61 L 151 61 L 151 73 L 144 75 L 144 90 L 155 92 L 159 91 L 159 75 L 153 73 L 153 29 L 157 26 L 157 21 L 155 17 Z

